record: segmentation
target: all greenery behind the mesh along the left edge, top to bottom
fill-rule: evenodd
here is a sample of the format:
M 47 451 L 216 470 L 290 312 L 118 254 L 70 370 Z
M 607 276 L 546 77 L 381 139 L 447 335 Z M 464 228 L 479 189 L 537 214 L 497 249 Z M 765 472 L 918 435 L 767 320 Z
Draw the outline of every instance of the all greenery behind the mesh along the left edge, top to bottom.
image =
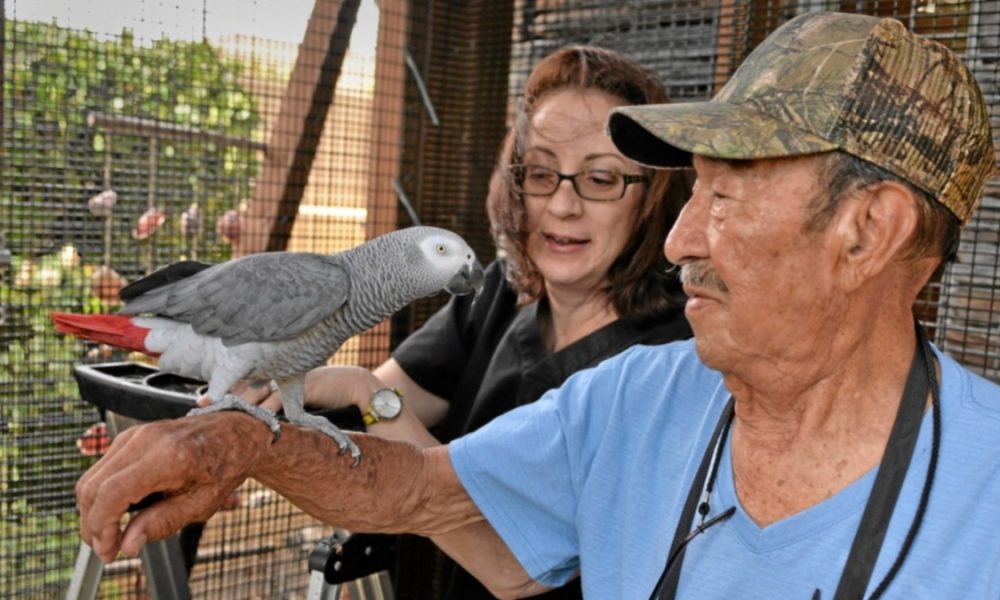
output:
M 143 46 L 128 31 L 106 38 L 55 24 L 4 25 L 0 227 L 14 256 L 0 274 L 0 597 L 57 597 L 78 543 L 73 484 L 93 461 L 74 441 L 96 421 L 72 367 L 125 356 L 87 358 L 92 346 L 57 335 L 49 312 L 114 308 L 90 289 L 105 244 L 129 280 L 194 250 L 201 260 L 227 258 L 214 219 L 249 195 L 261 159 L 194 138 L 154 145 L 144 135 L 109 135 L 87 114 L 247 139 L 260 134 L 260 116 L 241 83 L 243 65 L 208 43 Z M 105 222 L 87 201 L 105 187 L 108 157 L 118 203 Z M 134 240 L 151 196 L 167 221 L 153 238 Z M 196 237 L 176 226 L 191 203 L 204 215 Z M 60 253 L 65 244 L 80 256 Z

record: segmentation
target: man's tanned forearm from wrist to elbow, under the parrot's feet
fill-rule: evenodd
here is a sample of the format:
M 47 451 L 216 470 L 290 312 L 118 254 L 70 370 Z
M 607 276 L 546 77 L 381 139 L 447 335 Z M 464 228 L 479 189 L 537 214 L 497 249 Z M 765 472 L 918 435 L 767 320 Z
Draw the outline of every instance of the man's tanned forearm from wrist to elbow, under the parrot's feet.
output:
M 447 447 L 352 437 L 362 453 L 356 467 L 328 436 L 286 426 L 251 475 L 312 516 L 351 531 L 437 535 L 483 520 Z

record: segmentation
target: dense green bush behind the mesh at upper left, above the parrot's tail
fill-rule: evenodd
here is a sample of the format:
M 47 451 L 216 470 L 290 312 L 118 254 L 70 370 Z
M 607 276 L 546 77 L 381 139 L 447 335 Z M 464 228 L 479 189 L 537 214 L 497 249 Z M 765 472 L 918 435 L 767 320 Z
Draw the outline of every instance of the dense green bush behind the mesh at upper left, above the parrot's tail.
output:
M 45 253 L 53 249 L 46 241 L 73 234 L 61 227 L 89 216 L 86 202 L 104 187 L 109 146 L 110 185 L 119 191 L 116 231 L 131 231 L 151 194 L 174 224 L 197 202 L 206 225 L 247 195 L 260 160 L 254 150 L 194 138 L 161 140 L 150 181 L 148 137 L 109 135 L 87 124 L 95 111 L 250 139 L 260 115 L 241 83 L 245 67 L 238 60 L 207 42 L 138 45 L 127 30 L 108 39 L 46 23 L 6 21 L 6 28 L 0 215 L 17 223 L 14 211 L 27 206 L 35 221 L 31 231 L 6 231 L 15 250 Z M 184 245 L 177 227 L 160 235 L 173 236 L 161 245 Z M 203 254 L 226 257 L 224 244 L 207 242 L 212 245 Z

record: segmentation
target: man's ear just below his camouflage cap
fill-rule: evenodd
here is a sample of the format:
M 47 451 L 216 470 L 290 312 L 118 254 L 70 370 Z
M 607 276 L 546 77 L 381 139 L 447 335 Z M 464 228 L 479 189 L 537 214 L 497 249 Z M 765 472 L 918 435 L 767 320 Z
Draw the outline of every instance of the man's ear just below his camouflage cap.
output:
M 905 185 L 880 181 L 845 199 L 837 216 L 847 289 L 855 289 L 897 260 L 917 228 L 919 199 Z

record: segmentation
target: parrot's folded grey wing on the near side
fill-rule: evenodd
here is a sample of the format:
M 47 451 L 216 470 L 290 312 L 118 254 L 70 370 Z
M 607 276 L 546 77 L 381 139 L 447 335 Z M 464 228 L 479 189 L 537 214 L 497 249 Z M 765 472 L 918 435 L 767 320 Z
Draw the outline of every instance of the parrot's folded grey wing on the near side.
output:
M 294 337 L 347 301 L 350 276 L 341 263 L 337 255 L 300 252 L 246 256 L 165 288 L 155 312 L 227 346 Z

